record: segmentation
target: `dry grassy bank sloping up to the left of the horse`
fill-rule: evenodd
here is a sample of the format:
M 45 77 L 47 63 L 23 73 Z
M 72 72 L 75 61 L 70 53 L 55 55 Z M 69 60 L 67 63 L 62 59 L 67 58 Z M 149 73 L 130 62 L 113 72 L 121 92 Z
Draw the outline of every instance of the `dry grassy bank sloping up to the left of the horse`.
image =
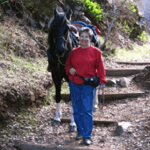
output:
M 30 29 L 30 32 L 46 43 L 44 32 Z M 44 52 L 12 19 L 7 19 L 0 27 L 0 117 L 9 113 L 9 104 L 15 109 L 32 105 L 50 104 L 54 87 L 51 86 L 51 74 L 47 72 L 47 58 Z M 43 53 L 43 54 L 42 54 Z M 34 124 L 34 120 L 30 120 Z

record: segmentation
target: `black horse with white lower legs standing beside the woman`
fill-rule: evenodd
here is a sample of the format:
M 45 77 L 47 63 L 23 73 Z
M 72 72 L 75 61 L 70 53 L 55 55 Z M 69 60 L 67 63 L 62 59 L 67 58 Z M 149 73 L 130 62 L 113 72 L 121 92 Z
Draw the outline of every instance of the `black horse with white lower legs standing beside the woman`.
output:
M 52 79 L 56 90 L 56 115 L 53 122 L 54 125 L 57 125 L 60 122 L 61 117 L 60 101 L 62 79 L 65 78 L 65 80 L 69 82 L 64 64 L 70 51 L 79 45 L 78 38 L 74 34 L 78 32 L 77 28 L 70 23 L 71 15 L 71 9 L 68 9 L 66 13 L 59 13 L 57 9 L 54 9 L 54 18 L 51 21 L 48 33 L 48 71 L 51 71 L 52 73 Z M 96 40 L 96 43 L 97 42 L 99 43 L 99 40 Z M 99 47 L 99 45 L 97 47 Z M 73 132 L 74 130 L 75 122 L 72 114 L 70 131 Z

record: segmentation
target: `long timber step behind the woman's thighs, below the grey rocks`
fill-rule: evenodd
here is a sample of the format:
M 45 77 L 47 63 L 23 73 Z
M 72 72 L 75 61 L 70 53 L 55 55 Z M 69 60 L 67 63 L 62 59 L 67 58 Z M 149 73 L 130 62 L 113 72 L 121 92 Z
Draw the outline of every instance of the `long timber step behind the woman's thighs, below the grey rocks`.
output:
M 117 100 L 117 99 L 124 99 L 124 98 L 135 98 L 138 96 L 144 95 L 145 92 L 131 92 L 131 93 L 110 93 L 107 94 L 105 93 L 105 100 L 110 101 L 110 100 Z M 69 101 L 69 94 L 61 94 L 61 97 L 64 101 Z M 99 94 L 99 98 L 101 97 L 101 94 Z

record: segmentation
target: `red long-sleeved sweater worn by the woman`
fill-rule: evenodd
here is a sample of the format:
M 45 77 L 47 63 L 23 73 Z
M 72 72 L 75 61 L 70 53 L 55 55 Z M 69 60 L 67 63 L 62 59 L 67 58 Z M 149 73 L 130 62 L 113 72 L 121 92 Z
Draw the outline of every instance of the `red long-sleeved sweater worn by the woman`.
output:
M 93 46 L 82 49 L 77 47 L 69 54 L 65 69 L 69 79 L 76 84 L 83 84 L 80 77 L 71 75 L 69 69 L 73 67 L 76 69 L 76 74 L 91 78 L 98 74 L 100 83 L 105 84 L 105 69 L 101 57 L 101 51 Z

